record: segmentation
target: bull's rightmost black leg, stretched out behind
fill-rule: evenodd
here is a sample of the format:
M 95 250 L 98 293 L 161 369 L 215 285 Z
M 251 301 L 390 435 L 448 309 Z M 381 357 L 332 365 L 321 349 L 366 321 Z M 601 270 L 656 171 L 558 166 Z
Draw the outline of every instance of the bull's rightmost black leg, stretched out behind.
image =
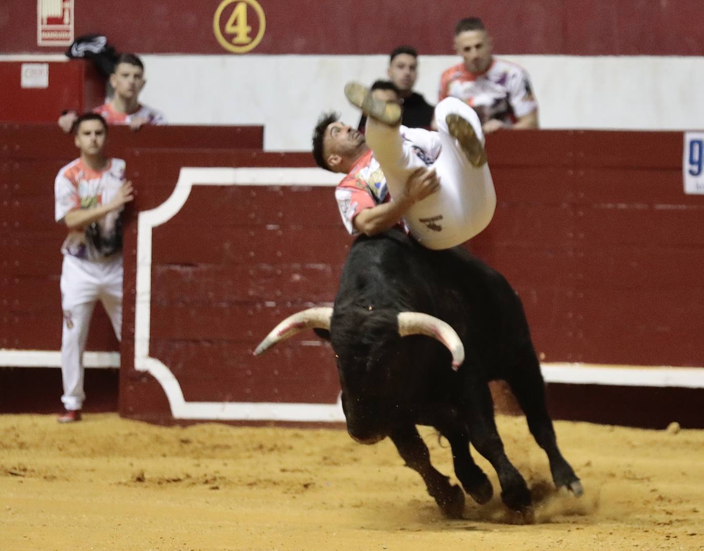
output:
M 532 435 L 548 455 L 555 486 L 565 486 L 574 495 L 582 495 L 582 483 L 558 448 L 545 400 L 545 382 L 534 350 L 529 350 L 524 362 L 508 373 L 506 381 L 526 416 Z

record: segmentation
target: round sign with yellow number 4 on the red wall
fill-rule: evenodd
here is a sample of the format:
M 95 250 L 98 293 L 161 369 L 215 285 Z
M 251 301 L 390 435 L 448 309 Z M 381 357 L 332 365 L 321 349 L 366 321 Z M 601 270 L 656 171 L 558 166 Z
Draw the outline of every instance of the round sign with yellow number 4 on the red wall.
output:
M 232 10 L 230 5 L 234 4 Z M 259 30 L 252 37 L 252 27 L 247 24 L 250 9 L 256 14 L 259 21 Z M 220 21 L 227 17 L 225 23 Z M 222 0 L 215 10 L 213 18 L 213 31 L 220 46 L 234 53 L 246 53 L 256 48 L 264 36 L 266 18 L 264 10 L 257 0 Z

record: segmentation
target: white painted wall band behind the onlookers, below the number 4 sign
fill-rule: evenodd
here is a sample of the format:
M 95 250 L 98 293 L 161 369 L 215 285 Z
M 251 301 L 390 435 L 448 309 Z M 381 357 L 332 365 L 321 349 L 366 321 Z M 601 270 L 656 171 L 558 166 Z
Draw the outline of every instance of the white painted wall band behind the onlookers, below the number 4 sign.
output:
M 704 128 L 704 56 L 503 53 L 499 57 L 531 75 L 543 128 Z M 359 112 L 346 101 L 344 84 L 386 78 L 389 65 L 386 55 L 150 54 L 142 59 L 148 84 L 140 98 L 163 111 L 171 124 L 264 125 L 265 151 L 310 151 L 310 135 L 323 110 L 339 110 L 342 120 L 356 124 Z M 60 54 L 10 54 L 0 55 L 2 61 L 68 60 Z M 441 73 L 459 62 L 455 55 L 421 55 L 416 90 L 436 103 Z M 287 83 L 285 93 L 281 82 Z

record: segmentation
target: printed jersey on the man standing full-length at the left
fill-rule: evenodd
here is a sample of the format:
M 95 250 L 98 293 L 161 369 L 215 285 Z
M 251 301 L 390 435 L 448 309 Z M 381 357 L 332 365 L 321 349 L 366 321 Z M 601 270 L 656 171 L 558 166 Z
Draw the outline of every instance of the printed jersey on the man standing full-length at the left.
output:
M 109 203 L 125 179 L 125 161 L 111 159 L 101 171 L 85 166 L 80 158 L 69 163 L 56 175 L 54 196 L 56 200 L 56 222 L 77 208 L 92 208 Z M 103 239 L 114 239 L 121 232 L 122 209 L 113 210 L 101 217 L 97 224 Z M 84 260 L 101 260 L 103 255 L 94 243 L 86 239 L 85 229 L 69 230 L 61 246 L 61 252 Z

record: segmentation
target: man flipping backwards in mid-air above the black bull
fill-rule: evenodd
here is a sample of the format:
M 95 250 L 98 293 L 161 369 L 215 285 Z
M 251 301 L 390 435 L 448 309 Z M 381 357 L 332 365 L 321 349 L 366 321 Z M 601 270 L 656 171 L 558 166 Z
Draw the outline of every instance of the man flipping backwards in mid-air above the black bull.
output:
M 318 166 L 346 173 L 335 190 L 350 234 L 375 235 L 401 219 L 423 246 L 450 248 L 484 229 L 496 208 L 484 136 L 474 110 L 448 98 L 435 108 L 438 132 L 401 126 L 401 107 L 362 84 L 347 99 L 369 118 L 366 137 L 324 113 L 313 133 Z

